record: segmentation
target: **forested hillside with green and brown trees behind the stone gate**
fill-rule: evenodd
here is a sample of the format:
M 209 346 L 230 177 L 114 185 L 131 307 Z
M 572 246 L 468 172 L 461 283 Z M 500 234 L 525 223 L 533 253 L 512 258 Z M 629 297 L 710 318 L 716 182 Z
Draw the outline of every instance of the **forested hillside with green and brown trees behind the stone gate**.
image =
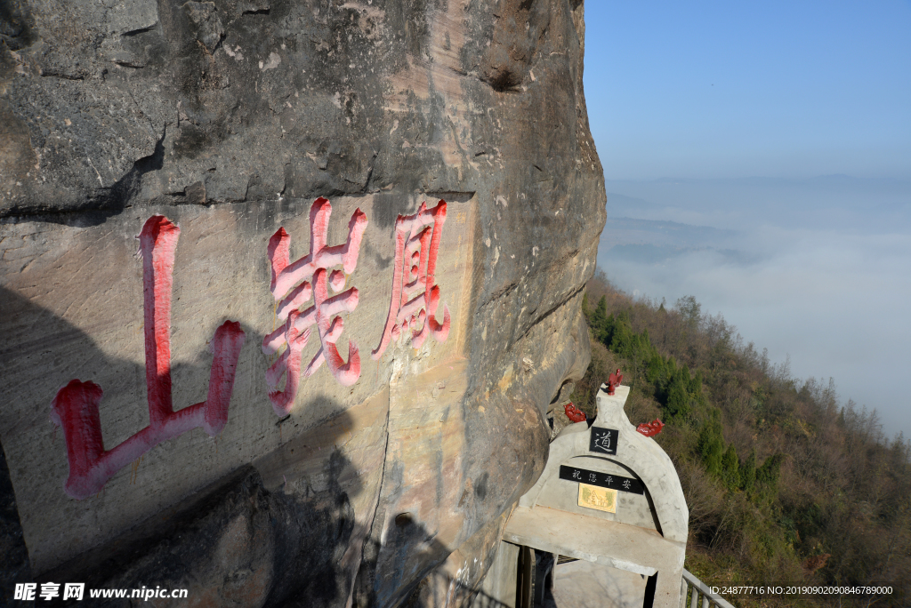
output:
M 670 307 L 631 299 L 599 272 L 584 306 L 592 359 L 573 400 L 594 413 L 600 383 L 620 368 L 630 421 L 665 422 L 655 439 L 690 507 L 692 573 L 717 585 L 911 580 L 911 444 L 890 437 L 875 410 L 840 403 L 832 380 L 793 378 L 692 297 Z M 907 605 L 898 591 L 869 605 Z

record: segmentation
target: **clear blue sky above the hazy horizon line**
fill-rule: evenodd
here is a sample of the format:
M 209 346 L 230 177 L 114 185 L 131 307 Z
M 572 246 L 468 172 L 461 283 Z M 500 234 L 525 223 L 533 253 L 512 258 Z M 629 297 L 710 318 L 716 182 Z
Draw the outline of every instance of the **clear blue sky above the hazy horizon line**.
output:
M 911 2 L 585 6 L 609 179 L 911 177 Z

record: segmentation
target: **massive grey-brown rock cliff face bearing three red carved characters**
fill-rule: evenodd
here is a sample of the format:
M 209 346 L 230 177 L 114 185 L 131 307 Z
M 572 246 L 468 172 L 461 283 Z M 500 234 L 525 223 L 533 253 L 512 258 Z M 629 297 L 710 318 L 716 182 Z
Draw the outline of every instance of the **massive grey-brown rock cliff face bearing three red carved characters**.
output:
M 0 0 L 0 35 L 33 579 L 462 603 L 589 360 L 581 2 Z

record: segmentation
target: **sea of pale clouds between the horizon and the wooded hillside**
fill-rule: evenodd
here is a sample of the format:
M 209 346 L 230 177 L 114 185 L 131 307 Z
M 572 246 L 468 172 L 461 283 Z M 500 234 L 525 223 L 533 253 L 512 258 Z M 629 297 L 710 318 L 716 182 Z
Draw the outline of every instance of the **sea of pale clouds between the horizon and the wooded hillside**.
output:
M 794 377 L 911 437 L 911 182 L 608 181 L 599 269 L 636 297 L 695 296 Z

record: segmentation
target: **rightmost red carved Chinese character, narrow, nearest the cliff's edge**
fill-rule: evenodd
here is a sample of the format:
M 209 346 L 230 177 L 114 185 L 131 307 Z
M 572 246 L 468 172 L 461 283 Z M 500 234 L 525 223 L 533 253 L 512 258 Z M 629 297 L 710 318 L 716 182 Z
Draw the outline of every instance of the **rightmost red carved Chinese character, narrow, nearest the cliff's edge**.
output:
M 449 335 L 449 308 L 443 307 L 442 323 L 436 319 L 440 288 L 434 278 L 445 220 L 445 200 L 432 209 L 421 203 L 415 215 L 395 220 L 393 297 L 383 338 L 371 354 L 374 359 L 382 357 L 389 342 L 399 339 L 405 329 L 411 329 L 415 349 L 421 348 L 428 335 L 438 342 L 445 342 Z

